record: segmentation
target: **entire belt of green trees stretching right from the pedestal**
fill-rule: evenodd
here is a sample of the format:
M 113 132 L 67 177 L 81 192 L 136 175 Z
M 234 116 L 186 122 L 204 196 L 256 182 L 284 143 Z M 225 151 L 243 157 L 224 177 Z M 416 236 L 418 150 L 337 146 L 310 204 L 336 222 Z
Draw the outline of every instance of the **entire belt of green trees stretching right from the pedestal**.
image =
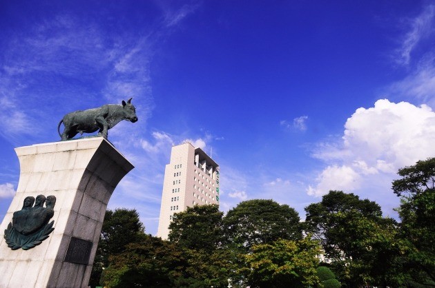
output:
M 340 191 L 308 205 L 302 225 L 273 200 L 243 201 L 225 216 L 191 207 L 175 214 L 168 241 L 145 235 L 135 210 L 109 210 L 93 277 L 106 267 L 106 287 L 435 287 L 434 158 L 398 174 L 400 223 Z M 318 267 L 320 253 L 336 278 Z

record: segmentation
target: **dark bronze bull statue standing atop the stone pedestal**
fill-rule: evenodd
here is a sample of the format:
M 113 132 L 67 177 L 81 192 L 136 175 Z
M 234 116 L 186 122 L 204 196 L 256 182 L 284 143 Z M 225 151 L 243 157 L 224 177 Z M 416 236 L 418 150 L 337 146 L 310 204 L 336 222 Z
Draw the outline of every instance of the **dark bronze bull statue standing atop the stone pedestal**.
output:
M 131 98 L 132 99 L 132 98 Z M 84 111 L 68 113 L 57 125 L 57 132 L 61 141 L 66 141 L 77 133 L 93 133 L 99 130 L 98 135 L 107 139 L 107 130 L 117 125 L 119 121 L 126 120 L 135 123 L 137 121 L 136 109 L 131 104 L 131 99 L 119 104 L 107 104 L 101 107 Z M 64 132 L 60 133 L 60 125 L 64 123 Z

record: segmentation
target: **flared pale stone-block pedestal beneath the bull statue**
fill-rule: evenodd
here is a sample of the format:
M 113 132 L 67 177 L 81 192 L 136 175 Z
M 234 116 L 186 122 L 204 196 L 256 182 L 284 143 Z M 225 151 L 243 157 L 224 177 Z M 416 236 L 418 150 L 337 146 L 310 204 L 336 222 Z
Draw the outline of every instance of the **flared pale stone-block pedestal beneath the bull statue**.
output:
M 106 207 L 133 165 L 104 138 L 15 149 L 17 194 L 0 226 L 0 287 L 87 287 Z M 4 231 L 27 196 L 56 196 L 54 231 L 32 249 L 12 250 Z

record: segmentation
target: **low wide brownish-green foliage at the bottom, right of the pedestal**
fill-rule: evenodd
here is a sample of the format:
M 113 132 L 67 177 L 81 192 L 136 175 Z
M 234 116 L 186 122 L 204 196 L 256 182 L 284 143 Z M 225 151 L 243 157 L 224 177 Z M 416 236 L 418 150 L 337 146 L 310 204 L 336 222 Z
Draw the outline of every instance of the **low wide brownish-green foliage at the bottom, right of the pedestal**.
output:
M 104 270 L 105 287 L 228 287 L 237 265 L 233 251 L 188 249 L 145 236 L 111 256 Z

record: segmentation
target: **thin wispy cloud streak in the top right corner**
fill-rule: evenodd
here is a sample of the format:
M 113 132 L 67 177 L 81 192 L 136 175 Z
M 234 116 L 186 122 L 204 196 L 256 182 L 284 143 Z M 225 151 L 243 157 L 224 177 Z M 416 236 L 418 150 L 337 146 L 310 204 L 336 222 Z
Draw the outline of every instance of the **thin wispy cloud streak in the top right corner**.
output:
M 435 6 L 429 5 L 415 19 L 410 21 L 410 29 L 405 35 L 400 49 L 397 50 L 396 62 L 401 65 L 408 65 L 411 61 L 412 52 L 416 46 L 427 39 L 434 32 Z

